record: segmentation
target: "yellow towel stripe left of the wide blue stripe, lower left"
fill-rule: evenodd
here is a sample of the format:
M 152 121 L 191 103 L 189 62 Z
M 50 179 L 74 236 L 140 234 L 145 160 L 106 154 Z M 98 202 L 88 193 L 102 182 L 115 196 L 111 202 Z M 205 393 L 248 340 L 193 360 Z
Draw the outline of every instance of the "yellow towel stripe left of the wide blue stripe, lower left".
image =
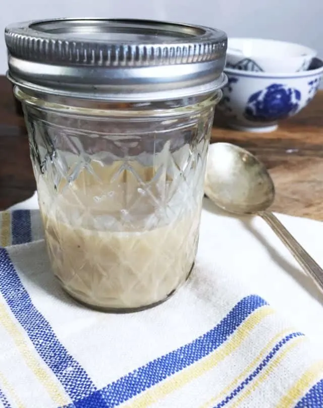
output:
M 43 385 L 55 404 L 58 406 L 69 404 L 70 399 L 65 394 L 65 391 L 61 389 L 56 379 L 51 378 L 47 369 L 42 367 L 42 364 L 38 361 L 38 355 L 36 355 L 34 348 L 28 344 L 23 332 L 3 304 L 0 304 L 0 324 L 8 331 L 21 356 L 25 360 L 25 363 L 33 372 L 37 380 Z M 52 374 L 52 376 L 54 376 L 54 374 Z

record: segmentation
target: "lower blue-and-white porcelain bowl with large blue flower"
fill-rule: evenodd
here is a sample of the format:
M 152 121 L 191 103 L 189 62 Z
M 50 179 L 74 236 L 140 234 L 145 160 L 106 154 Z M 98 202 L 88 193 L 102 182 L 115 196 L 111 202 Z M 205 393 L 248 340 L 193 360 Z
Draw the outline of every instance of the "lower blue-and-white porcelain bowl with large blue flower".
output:
M 323 61 L 296 73 L 248 72 L 226 68 L 228 83 L 217 112 L 234 129 L 272 132 L 278 122 L 297 114 L 316 94 Z

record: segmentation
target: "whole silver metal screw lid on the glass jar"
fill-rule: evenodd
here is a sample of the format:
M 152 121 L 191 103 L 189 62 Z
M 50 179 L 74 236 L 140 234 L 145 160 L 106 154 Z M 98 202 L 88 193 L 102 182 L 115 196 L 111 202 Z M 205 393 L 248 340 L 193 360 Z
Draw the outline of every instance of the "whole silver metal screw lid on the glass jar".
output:
M 56 19 L 5 29 L 9 78 L 34 91 L 156 100 L 225 83 L 227 36 L 150 20 Z

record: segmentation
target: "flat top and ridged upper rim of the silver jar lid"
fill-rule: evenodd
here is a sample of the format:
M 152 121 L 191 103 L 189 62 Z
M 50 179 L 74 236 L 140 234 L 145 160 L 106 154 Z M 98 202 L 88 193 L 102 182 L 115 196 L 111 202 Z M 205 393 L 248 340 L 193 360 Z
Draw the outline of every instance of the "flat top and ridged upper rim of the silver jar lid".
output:
M 136 19 L 53 19 L 6 27 L 11 54 L 29 61 L 150 66 L 217 60 L 227 35 L 199 25 Z

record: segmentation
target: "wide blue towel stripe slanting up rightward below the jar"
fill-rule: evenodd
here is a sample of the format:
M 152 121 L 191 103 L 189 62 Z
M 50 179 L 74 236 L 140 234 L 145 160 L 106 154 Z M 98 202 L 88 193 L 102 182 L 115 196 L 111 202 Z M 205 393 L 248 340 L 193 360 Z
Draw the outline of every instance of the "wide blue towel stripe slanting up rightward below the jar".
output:
M 121 377 L 102 390 L 96 391 L 90 397 L 69 405 L 69 408 L 90 406 L 114 408 L 120 405 L 212 353 L 232 335 L 252 312 L 264 305 L 266 302 L 255 295 L 242 299 L 216 327 L 204 335 Z M 100 395 L 106 401 L 105 405 L 95 404 L 93 398 Z

